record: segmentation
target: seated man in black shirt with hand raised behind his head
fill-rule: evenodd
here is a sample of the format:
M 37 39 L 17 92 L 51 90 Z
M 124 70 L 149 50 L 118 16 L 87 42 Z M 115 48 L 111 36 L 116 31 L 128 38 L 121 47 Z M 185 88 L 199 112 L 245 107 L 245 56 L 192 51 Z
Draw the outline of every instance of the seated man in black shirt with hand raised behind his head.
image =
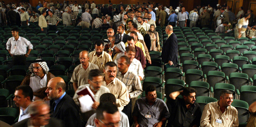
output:
M 183 98 L 177 97 L 183 95 Z M 200 126 L 202 112 L 195 102 L 196 89 L 186 87 L 181 91 L 172 92 L 167 99 L 167 106 L 172 116 L 169 117 L 167 126 L 192 127 Z M 192 117 L 191 117 L 192 116 Z

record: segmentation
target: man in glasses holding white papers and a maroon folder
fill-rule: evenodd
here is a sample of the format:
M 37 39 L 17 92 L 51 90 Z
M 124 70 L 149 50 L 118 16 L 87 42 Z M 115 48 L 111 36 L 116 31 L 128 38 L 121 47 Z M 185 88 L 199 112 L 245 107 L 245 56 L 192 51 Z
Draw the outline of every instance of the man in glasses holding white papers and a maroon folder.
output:
M 98 105 L 100 104 L 99 103 L 100 96 L 102 94 L 110 93 L 110 90 L 107 87 L 102 85 L 103 84 L 102 76 L 103 76 L 103 74 L 100 70 L 93 69 L 93 70 L 89 71 L 88 79 L 86 76 L 88 84 L 81 85 L 80 87 L 78 87 L 78 90 L 88 88 L 88 90 L 90 90 L 94 94 L 95 102 L 94 102 L 94 104 L 92 104 L 93 109 L 97 109 Z M 80 96 L 77 94 L 77 91 L 76 91 L 74 94 L 73 100 L 79 107 L 81 107 L 80 102 L 78 100 L 79 97 Z M 90 118 L 90 116 L 94 113 L 95 113 L 95 110 L 91 110 L 91 111 L 87 111 L 87 112 L 80 112 L 80 115 L 82 116 L 82 120 L 84 122 L 86 122 Z

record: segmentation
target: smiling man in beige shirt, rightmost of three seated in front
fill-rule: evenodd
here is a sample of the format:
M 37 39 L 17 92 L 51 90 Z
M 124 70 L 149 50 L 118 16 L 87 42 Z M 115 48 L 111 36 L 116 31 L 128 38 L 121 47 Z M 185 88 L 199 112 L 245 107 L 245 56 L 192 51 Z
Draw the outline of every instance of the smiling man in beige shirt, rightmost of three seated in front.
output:
M 232 102 L 232 92 L 222 90 L 220 100 L 204 106 L 200 127 L 238 127 L 238 111 Z

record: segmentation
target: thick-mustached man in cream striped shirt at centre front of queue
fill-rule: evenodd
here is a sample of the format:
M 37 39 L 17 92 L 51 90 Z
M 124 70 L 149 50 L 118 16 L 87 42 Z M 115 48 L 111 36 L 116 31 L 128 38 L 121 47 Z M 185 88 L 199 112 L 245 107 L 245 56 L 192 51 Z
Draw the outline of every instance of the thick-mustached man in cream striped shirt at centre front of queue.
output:
M 130 102 L 130 99 L 126 85 L 116 78 L 116 63 L 112 61 L 107 62 L 105 64 L 104 74 L 103 86 L 106 86 L 110 90 L 110 93 L 114 94 L 116 97 L 116 106 L 118 107 L 118 110 L 122 111 L 123 107 Z

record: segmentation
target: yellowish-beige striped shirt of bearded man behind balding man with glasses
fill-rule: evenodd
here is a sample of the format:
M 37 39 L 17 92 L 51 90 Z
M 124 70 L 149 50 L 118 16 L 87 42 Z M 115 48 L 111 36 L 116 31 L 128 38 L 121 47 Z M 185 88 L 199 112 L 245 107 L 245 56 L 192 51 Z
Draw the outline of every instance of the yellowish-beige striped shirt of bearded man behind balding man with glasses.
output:
M 89 54 L 89 57 L 90 57 L 89 62 L 97 65 L 102 72 L 105 68 L 105 64 L 109 61 L 112 61 L 111 56 L 105 51 L 102 51 L 102 54 L 99 57 L 97 56 L 96 51 L 92 51 Z

